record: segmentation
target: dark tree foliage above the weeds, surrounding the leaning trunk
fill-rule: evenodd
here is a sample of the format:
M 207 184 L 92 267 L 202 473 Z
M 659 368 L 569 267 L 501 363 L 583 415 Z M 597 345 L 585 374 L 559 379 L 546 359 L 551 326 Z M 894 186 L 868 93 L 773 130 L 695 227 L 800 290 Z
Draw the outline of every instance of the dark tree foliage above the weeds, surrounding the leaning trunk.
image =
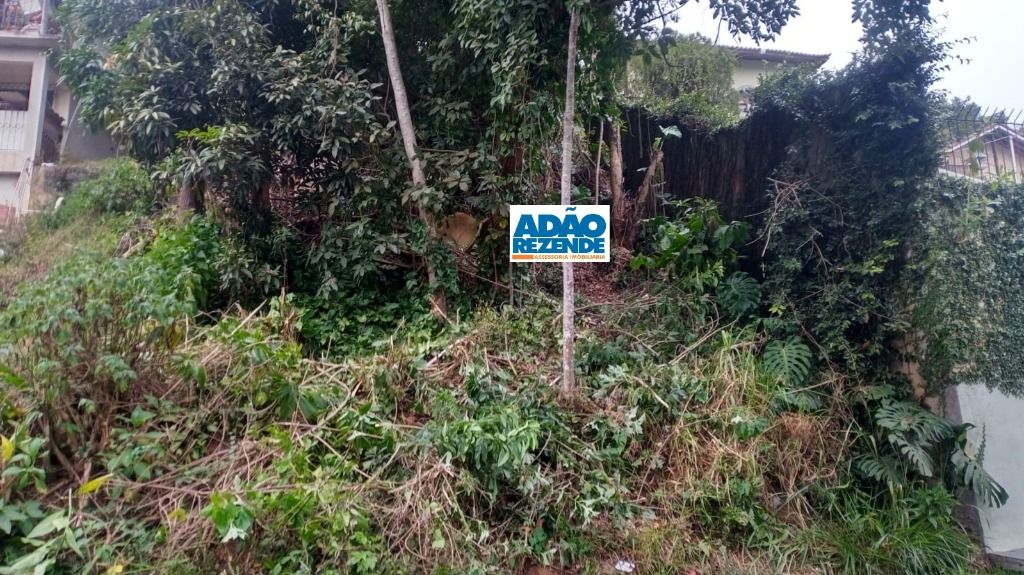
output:
M 420 269 L 460 286 L 457 266 L 508 278 L 499 223 L 546 202 L 567 30 L 561 0 L 392 2 L 427 185 L 410 185 L 373 2 L 71 0 L 60 71 L 81 116 L 159 167 L 186 204 L 238 222 L 303 292 L 347 292 Z M 583 13 L 583 117 L 613 101 L 632 47 L 685 2 L 601 2 Z M 750 4 L 750 5 L 741 5 Z M 792 0 L 713 0 L 730 28 L 770 38 Z M 694 87 L 686 91 L 694 94 Z M 693 95 L 692 97 L 697 97 Z M 718 97 L 718 96 L 716 96 Z M 717 99 L 715 101 L 718 101 Z M 472 269 L 413 217 L 481 222 Z M 281 246 L 288 237 L 291 245 Z M 402 278 L 403 281 L 403 278 Z

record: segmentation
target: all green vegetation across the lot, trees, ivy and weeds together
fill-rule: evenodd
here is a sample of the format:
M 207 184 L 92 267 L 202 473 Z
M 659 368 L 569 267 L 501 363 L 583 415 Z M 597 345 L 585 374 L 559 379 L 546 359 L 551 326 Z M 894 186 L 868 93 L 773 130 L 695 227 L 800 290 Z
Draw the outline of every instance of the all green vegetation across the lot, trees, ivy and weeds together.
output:
M 1024 222 L 934 179 L 927 0 L 855 0 L 853 64 L 755 94 L 798 136 L 750 221 L 656 197 L 660 138 L 643 189 L 605 186 L 632 250 L 581 273 L 566 392 L 551 267 L 507 265 L 505 216 L 552 200 L 568 11 L 620 177 L 624 82 L 724 124 L 722 54 L 658 42 L 679 2 L 392 4 L 425 185 L 374 3 L 61 3 L 66 80 L 132 160 L 0 263 L 0 575 L 984 568 L 952 510 L 1008 494 L 924 400 L 1020 389 L 985 366 Z M 761 39 L 795 10 L 712 4 Z

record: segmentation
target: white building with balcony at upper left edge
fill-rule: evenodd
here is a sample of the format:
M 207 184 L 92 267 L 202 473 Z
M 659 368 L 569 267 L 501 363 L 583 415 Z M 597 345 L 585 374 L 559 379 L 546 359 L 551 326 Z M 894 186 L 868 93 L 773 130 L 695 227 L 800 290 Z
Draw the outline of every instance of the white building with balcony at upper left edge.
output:
M 59 40 L 52 15 L 51 0 L 0 0 L 0 223 L 28 211 L 35 166 L 114 153 L 108 136 L 74 121 L 47 58 Z

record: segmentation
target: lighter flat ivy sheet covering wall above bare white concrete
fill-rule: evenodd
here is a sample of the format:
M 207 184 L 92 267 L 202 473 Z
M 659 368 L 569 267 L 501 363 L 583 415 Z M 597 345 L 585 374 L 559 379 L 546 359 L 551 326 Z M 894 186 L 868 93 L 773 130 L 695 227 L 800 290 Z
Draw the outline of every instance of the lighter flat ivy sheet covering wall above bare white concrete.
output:
M 922 375 L 933 390 L 1024 392 L 1024 187 L 939 178 L 915 206 L 908 272 Z

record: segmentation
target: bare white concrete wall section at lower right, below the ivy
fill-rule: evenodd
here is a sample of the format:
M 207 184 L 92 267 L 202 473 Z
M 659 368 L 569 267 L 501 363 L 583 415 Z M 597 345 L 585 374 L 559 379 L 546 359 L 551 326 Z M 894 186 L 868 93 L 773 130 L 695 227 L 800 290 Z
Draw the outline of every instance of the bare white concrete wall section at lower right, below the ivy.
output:
M 971 431 L 975 445 L 981 445 L 984 429 L 985 471 L 1010 493 L 999 508 L 977 505 L 985 546 L 994 552 L 1024 548 L 1024 399 L 984 386 L 957 386 L 951 393 L 958 419 L 976 426 Z

